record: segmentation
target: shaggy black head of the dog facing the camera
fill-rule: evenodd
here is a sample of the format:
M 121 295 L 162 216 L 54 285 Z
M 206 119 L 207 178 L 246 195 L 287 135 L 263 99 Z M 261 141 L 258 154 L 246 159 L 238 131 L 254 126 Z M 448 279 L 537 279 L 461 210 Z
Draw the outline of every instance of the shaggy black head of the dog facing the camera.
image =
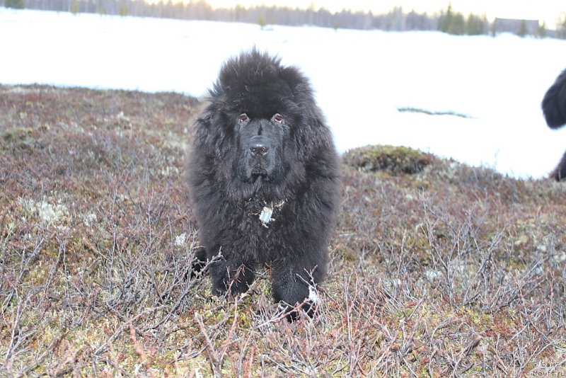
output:
M 305 180 L 316 151 L 333 148 L 308 79 L 277 57 L 254 49 L 229 59 L 210 101 L 197 153 L 214 164 L 228 195 L 287 197 L 283 192 Z

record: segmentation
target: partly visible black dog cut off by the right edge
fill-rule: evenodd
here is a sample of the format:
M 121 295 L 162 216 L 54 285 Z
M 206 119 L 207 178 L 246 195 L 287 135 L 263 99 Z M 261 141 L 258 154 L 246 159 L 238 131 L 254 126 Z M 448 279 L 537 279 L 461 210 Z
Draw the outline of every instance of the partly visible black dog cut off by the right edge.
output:
M 546 91 L 542 107 L 546 124 L 550 128 L 557 129 L 566 124 L 566 69 L 558 75 L 554 84 Z M 562 156 L 558 166 L 550 173 L 550 177 L 556 181 L 566 177 L 566 153 Z

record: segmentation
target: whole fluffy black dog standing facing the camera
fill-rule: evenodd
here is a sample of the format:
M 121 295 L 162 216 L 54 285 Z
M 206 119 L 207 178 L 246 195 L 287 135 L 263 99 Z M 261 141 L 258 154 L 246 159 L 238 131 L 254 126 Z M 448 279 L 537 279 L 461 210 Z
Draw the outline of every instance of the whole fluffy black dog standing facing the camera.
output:
M 210 102 L 197 120 L 189 185 L 213 292 L 246 292 L 255 268 L 267 265 L 288 319 L 296 304 L 312 315 L 340 179 L 309 81 L 252 50 L 224 64 Z

